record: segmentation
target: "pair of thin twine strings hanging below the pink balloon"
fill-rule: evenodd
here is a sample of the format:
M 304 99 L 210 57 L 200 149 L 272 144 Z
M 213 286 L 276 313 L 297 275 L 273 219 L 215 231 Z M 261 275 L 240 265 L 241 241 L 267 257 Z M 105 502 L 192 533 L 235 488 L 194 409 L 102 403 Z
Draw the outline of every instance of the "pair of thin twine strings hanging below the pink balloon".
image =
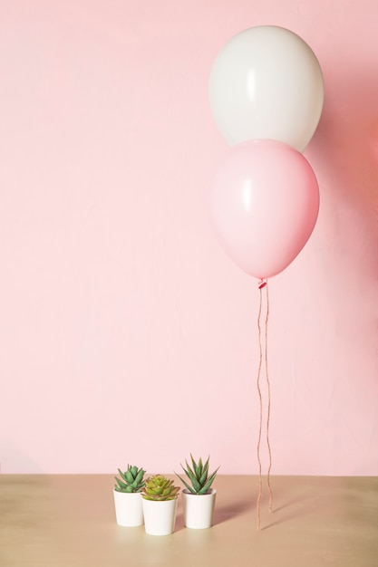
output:
M 267 487 L 269 491 L 269 512 L 272 512 L 272 503 L 273 503 L 273 493 L 272 488 L 270 485 L 270 471 L 272 468 L 272 452 L 270 448 L 270 441 L 269 441 L 269 422 L 270 422 L 270 381 L 269 381 L 269 374 L 268 374 L 268 367 L 267 367 L 267 323 L 269 319 L 269 294 L 267 289 L 267 281 L 260 280 L 258 283 L 258 289 L 260 292 L 260 301 L 258 307 L 258 317 L 257 317 L 257 329 L 258 329 L 258 348 L 259 348 L 259 360 L 258 360 L 258 371 L 257 371 L 257 392 L 258 392 L 258 399 L 259 399 L 259 408 L 260 408 L 260 416 L 259 416 L 259 429 L 258 429 L 258 440 L 257 440 L 257 461 L 258 461 L 258 495 L 257 495 L 257 530 L 260 530 L 260 504 L 261 504 L 261 496 L 262 496 L 262 474 L 261 474 L 261 456 L 260 456 L 260 447 L 261 447 L 261 435 L 262 435 L 262 428 L 263 428 L 263 399 L 261 394 L 261 387 L 260 387 L 260 377 L 261 377 L 261 368 L 263 364 L 263 341 L 262 341 L 262 332 L 261 332 L 261 314 L 262 314 L 262 303 L 263 303 L 263 295 L 262 290 L 266 288 L 267 293 L 267 313 L 265 318 L 265 367 L 266 367 L 266 380 L 267 380 L 267 450 L 269 455 L 269 466 L 267 470 Z

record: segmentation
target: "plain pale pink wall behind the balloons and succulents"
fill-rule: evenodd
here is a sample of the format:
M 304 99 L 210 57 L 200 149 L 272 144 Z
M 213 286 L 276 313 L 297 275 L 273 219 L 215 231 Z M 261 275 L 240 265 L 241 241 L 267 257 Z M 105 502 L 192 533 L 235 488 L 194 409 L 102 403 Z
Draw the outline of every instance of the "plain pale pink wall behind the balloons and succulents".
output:
M 326 95 L 315 233 L 269 282 L 272 473 L 378 474 L 376 0 L 2 0 L 2 473 L 257 473 L 257 283 L 207 195 L 208 73 L 259 24 Z

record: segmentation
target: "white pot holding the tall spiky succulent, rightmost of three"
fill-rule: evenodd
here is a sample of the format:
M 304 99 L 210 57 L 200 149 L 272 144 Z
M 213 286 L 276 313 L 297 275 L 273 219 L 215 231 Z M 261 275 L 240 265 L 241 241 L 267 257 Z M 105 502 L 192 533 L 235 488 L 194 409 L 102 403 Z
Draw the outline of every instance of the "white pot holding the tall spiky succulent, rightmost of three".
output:
M 182 491 L 184 521 L 187 528 L 203 530 L 213 522 L 217 491 L 211 488 L 206 495 L 192 495 L 189 490 Z

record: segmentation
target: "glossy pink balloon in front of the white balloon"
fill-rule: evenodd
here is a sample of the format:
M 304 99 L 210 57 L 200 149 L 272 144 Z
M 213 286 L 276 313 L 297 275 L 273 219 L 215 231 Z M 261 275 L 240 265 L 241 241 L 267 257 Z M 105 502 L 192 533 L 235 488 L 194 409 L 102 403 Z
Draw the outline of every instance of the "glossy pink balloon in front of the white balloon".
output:
M 314 230 L 319 188 L 308 161 L 273 139 L 236 146 L 210 190 L 221 245 L 247 274 L 268 278 L 293 262 Z

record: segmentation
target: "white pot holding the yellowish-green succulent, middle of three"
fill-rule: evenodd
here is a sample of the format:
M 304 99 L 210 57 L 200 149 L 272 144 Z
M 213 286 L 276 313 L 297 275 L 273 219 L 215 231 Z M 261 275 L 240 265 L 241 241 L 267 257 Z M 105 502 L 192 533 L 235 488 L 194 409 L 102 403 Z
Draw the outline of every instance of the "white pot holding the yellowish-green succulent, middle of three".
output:
M 177 498 L 146 500 L 142 498 L 144 528 L 150 535 L 170 535 L 175 530 Z

